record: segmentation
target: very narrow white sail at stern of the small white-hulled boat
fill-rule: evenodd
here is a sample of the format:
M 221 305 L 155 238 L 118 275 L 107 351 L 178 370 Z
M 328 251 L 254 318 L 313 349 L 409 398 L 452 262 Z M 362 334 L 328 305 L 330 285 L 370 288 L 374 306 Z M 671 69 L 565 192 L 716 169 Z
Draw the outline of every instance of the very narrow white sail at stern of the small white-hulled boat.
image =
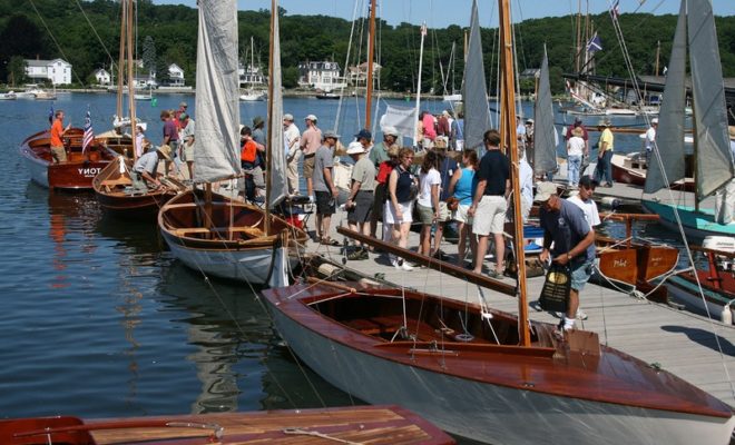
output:
M 273 92 L 268 96 L 270 100 L 270 115 L 268 115 L 268 157 L 271 165 L 267 169 L 268 175 L 268 207 L 278 205 L 283 198 L 288 194 L 286 182 L 286 154 L 285 141 L 283 136 L 283 92 L 281 91 L 281 34 L 278 31 L 278 9 L 277 1 L 275 2 L 275 11 L 272 12 L 272 32 L 271 47 L 273 53 L 271 55 L 271 85 Z

